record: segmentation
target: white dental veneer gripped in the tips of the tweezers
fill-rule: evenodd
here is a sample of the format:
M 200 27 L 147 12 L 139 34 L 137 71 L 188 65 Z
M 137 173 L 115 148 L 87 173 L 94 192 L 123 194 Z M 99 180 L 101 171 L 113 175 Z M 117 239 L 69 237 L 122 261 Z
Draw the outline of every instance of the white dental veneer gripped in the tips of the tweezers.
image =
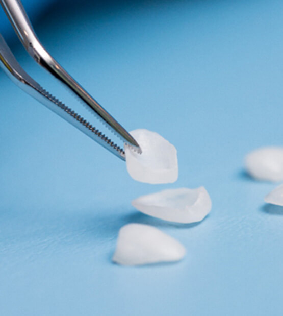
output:
M 175 147 L 161 135 L 145 129 L 130 134 L 139 143 L 142 154 L 125 145 L 127 171 L 140 182 L 172 183 L 178 178 L 178 161 Z

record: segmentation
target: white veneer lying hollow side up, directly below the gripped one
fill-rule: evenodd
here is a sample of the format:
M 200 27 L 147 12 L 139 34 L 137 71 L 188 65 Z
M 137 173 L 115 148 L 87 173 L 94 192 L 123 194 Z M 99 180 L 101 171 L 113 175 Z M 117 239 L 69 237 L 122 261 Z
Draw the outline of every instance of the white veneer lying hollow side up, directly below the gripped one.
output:
M 132 201 L 132 205 L 142 213 L 177 223 L 199 222 L 212 207 L 204 187 L 163 190 L 142 196 Z

